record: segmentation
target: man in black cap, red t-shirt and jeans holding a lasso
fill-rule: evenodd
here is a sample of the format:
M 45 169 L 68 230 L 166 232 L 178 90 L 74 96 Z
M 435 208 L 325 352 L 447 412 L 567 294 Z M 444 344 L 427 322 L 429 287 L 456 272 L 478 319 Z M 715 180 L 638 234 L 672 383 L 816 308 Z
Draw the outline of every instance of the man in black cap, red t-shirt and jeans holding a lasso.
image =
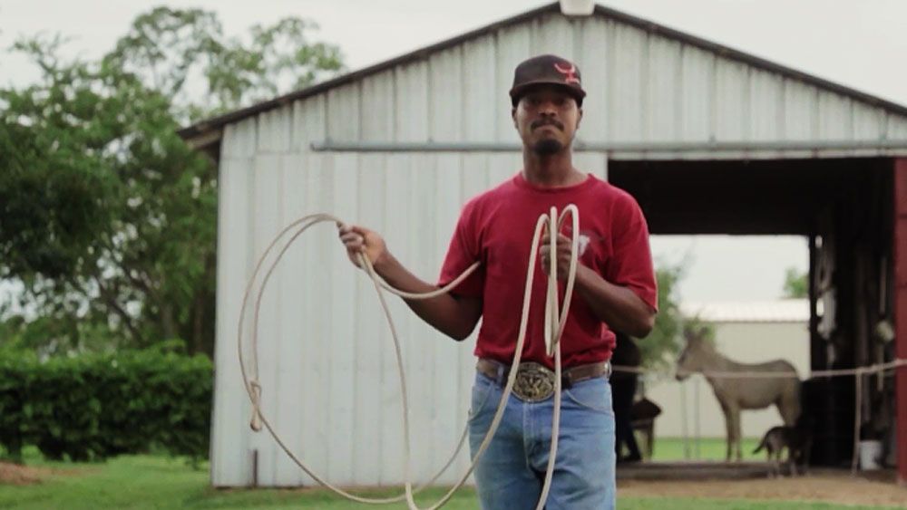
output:
M 656 313 L 656 286 L 648 227 L 629 194 L 572 165 L 571 144 L 582 118 L 580 70 L 553 55 L 517 66 L 512 100 L 513 125 L 522 139 L 523 168 L 497 188 L 463 207 L 437 285 L 409 273 L 387 250 L 384 240 L 361 226 L 340 231 L 355 262 L 364 252 L 388 284 L 411 293 L 434 291 L 473 262 L 479 270 L 449 294 L 407 301 L 425 322 L 463 340 L 483 317 L 476 342 L 479 358 L 473 386 L 470 446 L 473 453 L 491 425 L 513 358 L 522 312 L 530 250 L 538 249 L 539 277 L 517 382 L 502 423 L 479 461 L 475 479 L 485 510 L 534 508 L 551 446 L 553 395 L 540 394 L 538 382 L 553 387 L 553 360 L 543 338 L 545 278 L 549 256 L 557 257 L 558 276 L 566 278 L 571 237 L 580 236 L 580 265 L 575 297 L 561 337 L 564 391 L 561 435 L 549 510 L 613 508 L 614 415 L 607 361 L 615 330 L 646 336 Z M 531 246 L 536 218 L 550 208 L 575 204 L 580 232 L 557 233 L 557 253 L 547 238 Z M 563 293 L 561 281 L 561 293 Z

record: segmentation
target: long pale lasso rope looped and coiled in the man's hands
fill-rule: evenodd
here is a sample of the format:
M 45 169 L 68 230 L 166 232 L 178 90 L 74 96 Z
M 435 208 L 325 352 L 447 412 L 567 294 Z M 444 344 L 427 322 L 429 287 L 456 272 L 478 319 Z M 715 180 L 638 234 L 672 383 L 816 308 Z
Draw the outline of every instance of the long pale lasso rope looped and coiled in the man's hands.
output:
M 571 215 L 572 226 L 573 226 L 573 229 L 571 232 L 571 236 L 572 236 L 571 264 L 570 264 L 569 273 L 567 275 L 567 286 L 566 286 L 566 294 L 565 294 L 565 298 L 564 298 L 564 303 L 562 304 L 562 306 L 560 307 L 560 310 L 559 310 L 559 307 L 558 307 L 559 296 L 558 296 L 558 285 L 557 285 L 557 236 L 561 230 L 562 222 L 564 221 L 564 219 L 566 218 L 566 215 L 568 213 L 570 213 L 570 215 Z M 567 314 L 570 309 L 571 293 L 572 293 L 573 284 L 574 284 L 575 277 L 576 277 L 577 257 L 578 257 L 578 248 L 579 248 L 579 236 L 578 236 L 579 234 L 578 233 L 580 230 L 579 221 L 580 221 L 579 220 L 579 209 L 576 206 L 571 204 L 570 206 L 566 207 L 561 212 L 561 217 L 558 217 L 556 209 L 554 207 L 551 207 L 551 213 L 549 215 L 542 215 L 541 217 L 539 217 L 538 221 L 536 222 L 535 230 L 534 230 L 534 233 L 532 236 L 532 245 L 530 248 L 531 249 L 530 260 L 529 260 L 529 265 L 527 267 L 525 292 L 523 293 L 522 316 L 521 316 L 521 320 L 520 320 L 520 333 L 518 335 L 516 346 L 515 346 L 515 349 L 513 352 L 513 361 L 511 363 L 512 368 L 511 368 L 509 376 L 507 378 L 507 383 L 504 386 L 502 398 L 501 398 L 501 401 L 499 402 L 498 409 L 495 411 L 494 417 L 492 419 L 492 424 L 489 427 L 488 431 L 486 432 L 485 437 L 483 438 L 483 441 L 480 444 L 478 450 L 475 452 L 475 456 L 473 457 L 472 463 L 471 463 L 470 467 L 467 469 L 466 473 L 460 478 L 460 481 L 455 486 L 453 486 L 438 502 L 436 502 L 434 505 L 431 505 L 430 507 L 428 507 L 427 510 L 435 510 L 435 509 L 441 507 L 442 505 L 447 503 L 447 501 L 450 500 L 450 498 L 453 496 L 453 494 L 454 494 L 454 492 L 456 492 L 456 490 L 458 490 L 461 486 L 463 486 L 463 484 L 466 482 L 466 480 L 472 474 L 473 469 L 475 468 L 475 465 L 477 464 L 479 458 L 483 455 L 485 449 L 491 443 L 493 435 L 497 431 L 497 428 L 501 423 L 503 411 L 506 407 L 506 403 L 507 403 L 508 399 L 510 398 L 513 384 L 516 381 L 516 375 L 519 370 L 520 360 L 522 358 L 522 348 L 523 348 L 523 343 L 525 342 L 526 328 L 527 328 L 527 324 L 528 324 L 528 320 L 529 320 L 530 303 L 532 300 L 532 281 L 534 279 L 534 274 L 535 274 L 534 269 L 535 269 L 535 263 L 536 263 L 536 256 L 538 255 L 537 246 L 539 245 L 539 241 L 541 239 L 542 230 L 547 229 L 547 231 L 551 235 L 551 257 L 550 257 L 551 265 L 550 265 L 548 292 L 547 292 L 547 296 L 546 296 L 547 299 L 545 302 L 546 328 L 544 331 L 544 338 L 545 338 L 546 349 L 548 350 L 550 355 L 551 355 L 551 353 L 553 353 L 553 356 L 554 356 L 555 393 L 554 393 L 554 409 L 553 409 L 553 416 L 552 416 L 552 421 L 551 421 L 551 453 L 549 455 L 548 467 L 547 467 L 546 474 L 545 474 L 545 481 L 542 486 L 541 496 L 540 496 L 539 503 L 536 508 L 537 508 L 537 510 L 541 510 L 544 507 L 545 501 L 547 500 L 548 492 L 549 492 L 549 489 L 551 486 L 551 477 L 553 474 L 554 463 L 555 463 L 555 460 L 557 457 L 558 436 L 560 435 L 560 417 L 561 417 L 561 346 L 560 346 L 560 339 L 561 339 L 561 334 L 563 333 L 564 325 L 567 321 Z M 265 252 L 258 259 L 258 263 L 256 264 L 255 270 L 252 273 L 252 277 L 249 279 L 249 284 L 246 287 L 246 292 L 243 295 L 242 309 L 239 314 L 237 346 L 238 346 L 238 351 L 239 351 L 239 371 L 242 375 L 242 379 L 243 379 L 245 388 L 246 388 L 247 392 L 249 393 L 249 400 L 252 403 L 252 419 L 250 422 L 250 427 L 255 431 L 260 430 L 262 427 L 267 428 L 270 435 L 278 443 L 278 446 L 281 447 L 281 449 L 283 449 L 284 452 L 286 452 L 287 455 L 290 458 L 292 458 L 294 462 L 296 462 L 298 467 L 300 467 L 304 472 L 306 472 L 306 474 L 308 476 L 311 476 L 319 484 L 334 491 L 339 496 L 344 496 L 347 499 L 350 499 L 350 500 L 353 500 L 353 501 L 356 501 L 359 503 L 379 504 L 379 505 L 387 504 L 387 503 L 395 503 L 395 502 L 403 501 L 405 499 L 407 502 L 407 505 L 409 506 L 409 508 L 411 510 L 420 510 L 418 508 L 418 506 L 415 505 L 415 501 L 414 501 L 414 497 L 413 497 L 414 494 L 419 492 L 425 486 L 429 486 L 432 483 L 434 483 L 434 481 L 437 480 L 438 477 L 440 477 L 444 473 L 444 471 L 453 464 L 454 458 L 459 453 L 460 449 L 463 447 L 464 439 L 466 437 L 466 433 L 468 430 L 468 425 L 467 425 L 467 428 L 463 430 L 463 435 L 460 438 L 459 445 L 454 450 L 453 455 L 450 457 L 447 464 L 444 467 L 442 467 L 441 470 L 435 476 L 433 476 L 431 480 L 429 480 L 422 486 L 417 487 L 414 490 L 412 483 L 410 481 L 411 480 L 411 478 L 410 478 L 410 475 L 411 475 L 410 460 L 411 460 L 412 452 L 410 450 L 409 404 L 408 404 L 407 393 L 406 393 L 406 380 L 405 380 L 405 373 L 404 373 L 404 369 L 403 369 L 403 357 L 401 354 L 400 342 L 397 337 L 394 321 L 391 317 L 390 310 L 387 307 L 387 303 L 385 302 L 384 293 L 382 292 L 382 290 L 384 289 L 390 293 L 395 293 L 396 295 L 404 297 L 405 299 L 429 299 L 431 297 L 440 295 L 441 293 L 449 292 L 453 287 L 460 284 L 466 277 L 468 277 L 470 274 L 472 274 L 475 271 L 475 269 L 479 266 L 479 263 L 476 262 L 475 264 L 470 266 L 463 274 L 461 274 L 459 277 L 457 277 L 457 279 L 455 279 L 450 284 L 447 284 L 446 286 L 444 286 L 444 288 L 438 289 L 431 293 L 406 293 L 406 292 L 399 291 L 399 290 L 395 289 L 394 287 L 386 284 L 381 279 L 381 277 L 375 273 L 375 268 L 372 267 L 371 262 L 368 260 L 368 257 L 366 257 L 365 254 L 359 254 L 359 263 L 360 263 L 359 265 L 363 269 L 366 270 L 366 273 L 369 274 L 369 276 L 372 279 L 372 282 L 375 284 L 375 292 L 378 294 L 379 302 L 381 303 L 382 309 L 385 313 L 385 318 L 387 319 L 388 326 L 391 329 L 391 336 L 394 341 L 395 357 L 396 357 L 396 361 L 397 361 L 397 368 L 398 368 L 398 371 L 400 374 L 400 388 L 401 388 L 401 394 L 403 396 L 403 420 L 404 420 L 404 439 L 405 439 L 404 440 L 405 494 L 402 496 L 387 497 L 387 498 L 366 498 L 366 497 L 362 497 L 362 496 L 356 496 L 356 495 L 346 492 L 345 490 L 341 489 L 340 487 L 331 485 L 330 483 L 327 482 L 327 480 L 325 480 L 321 476 L 317 476 L 317 474 L 312 469 L 307 467 L 290 450 L 290 448 L 287 447 L 287 445 L 283 442 L 283 440 L 278 436 L 277 431 L 271 426 L 270 422 L 268 421 L 268 419 L 264 416 L 264 414 L 261 411 L 262 388 L 261 388 L 260 383 L 258 382 L 258 314 L 259 314 L 260 307 L 261 307 L 262 296 L 264 295 L 265 289 L 267 288 L 268 281 L 270 279 L 271 274 L 273 273 L 274 269 L 277 267 L 278 263 L 280 262 L 280 259 L 287 252 L 289 246 L 292 245 L 292 243 L 294 241 L 296 241 L 297 237 L 301 236 L 302 233 L 305 232 L 309 227 L 314 226 L 318 223 L 322 223 L 322 222 L 332 222 L 332 223 L 336 224 L 336 226 L 338 226 L 338 227 L 344 225 L 344 222 L 341 221 L 339 218 L 333 217 L 333 216 L 327 215 L 327 214 L 310 215 L 307 217 L 299 218 L 296 221 L 292 222 L 290 225 L 288 225 L 282 231 L 280 231 L 277 236 L 275 236 L 274 240 L 271 241 L 270 245 L 268 245 L 268 247 L 265 249 Z M 254 318 L 253 318 L 253 322 L 252 322 L 252 332 L 251 332 L 252 334 L 251 334 L 251 339 L 249 342 L 250 348 L 251 348 L 251 353 L 252 353 L 251 361 L 250 361 L 251 373 L 249 374 L 246 370 L 247 367 L 246 367 L 246 362 L 245 362 L 244 355 L 243 355 L 243 336 L 244 336 L 243 323 L 245 320 L 247 303 L 249 302 L 249 294 L 252 292 L 252 289 L 256 282 L 256 278 L 258 277 L 258 273 L 260 272 L 261 267 L 265 262 L 265 259 L 268 257 L 268 255 L 271 253 L 271 251 L 274 249 L 274 247 L 278 244 L 278 241 L 282 237 L 288 235 L 288 233 L 290 233 L 294 229 L 296 229 L 296 231 L 293 233 L 292 236 L 290 236 L 290 238 L 287 242 L 287 245 L 285 245 L 279 251 L 275 260 L 268 267 L 268 271 L 262 280 L 260 288 L 258 289 L 258 294 L 257 294 L 256 300 L 255 300 L 255 313 L 254 313 Z M 553 327 L 554 324 L 557 324 L 556 328 Z

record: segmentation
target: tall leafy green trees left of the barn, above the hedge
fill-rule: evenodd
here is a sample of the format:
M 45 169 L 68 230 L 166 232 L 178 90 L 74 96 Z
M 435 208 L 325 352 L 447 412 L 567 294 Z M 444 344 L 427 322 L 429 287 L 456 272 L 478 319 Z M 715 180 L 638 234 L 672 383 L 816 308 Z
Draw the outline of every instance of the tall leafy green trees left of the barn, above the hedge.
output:
M 161 7 L 97 62 L 63 60 L 60 37 L 15 44 L 42 77 L 0 89 L 0 277 L 39 319 L 8 317 L 7 338 L 213 350 L 217 172 L 176 130 L 339 70 L 312 27 L 256 26 L 244 44 L 214 14 Z

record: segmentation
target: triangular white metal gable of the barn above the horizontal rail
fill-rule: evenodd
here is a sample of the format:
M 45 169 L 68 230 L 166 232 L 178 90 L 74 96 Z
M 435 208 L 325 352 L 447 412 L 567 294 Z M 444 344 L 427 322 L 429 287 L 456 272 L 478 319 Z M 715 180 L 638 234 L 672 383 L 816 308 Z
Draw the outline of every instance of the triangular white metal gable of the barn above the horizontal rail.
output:
M 907 147 L 900 105 L 606 7 L 569 18 L 556 4 L 181 134 L 215 152 L 221 140 L 235 147 L 238 131 L 244 149 L 261 140 L 268 150 L 512 151 L 512 69 L 537 53 L 580 63 L 589 91 L 580 150 L 640 159 L 696 158 L 700 149 L 798 157 L 810 149 L 865 156 Z M 297 119 L 303 111 L 317 120 Z M 295 122 L 318 122 L 322 136 L 284 129 Z

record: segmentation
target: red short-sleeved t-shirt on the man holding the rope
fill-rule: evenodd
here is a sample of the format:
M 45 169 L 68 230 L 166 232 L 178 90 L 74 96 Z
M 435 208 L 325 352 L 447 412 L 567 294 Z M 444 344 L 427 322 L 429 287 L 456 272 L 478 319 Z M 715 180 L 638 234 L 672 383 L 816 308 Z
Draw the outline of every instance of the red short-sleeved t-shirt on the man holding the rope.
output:
M 453 293 L 483 299 L 476 356 L 512 362 L 520 332 L 533 228 L 537 218 L 548 214 L 551 206 L 557 207 L 560 214 L 570 204 L 580 210 L 580 264 L 595 269 L 611 284 L 628 287 L 653 310 L 657 308 L 649 227 L 629 193 L 592 175 L 571 187 L 537 188 L 519 173 L 463 207 L 441 269 L 439 284 L 444 285 L 475 261 L 482 263 L 453 289 Z M 562 229 L 567 236 L 571 225 L 568 218 Z M 545 353 L 542 334 L 546 282 L 541 264 L 536 262 L 522 360 L 551 368 L 554 360 Z M 561 303 L 564 286 L 561 282 Z M 561 336 L 563 366 L 606 361 L 613 348 L 614 333 L 574 291 Z

